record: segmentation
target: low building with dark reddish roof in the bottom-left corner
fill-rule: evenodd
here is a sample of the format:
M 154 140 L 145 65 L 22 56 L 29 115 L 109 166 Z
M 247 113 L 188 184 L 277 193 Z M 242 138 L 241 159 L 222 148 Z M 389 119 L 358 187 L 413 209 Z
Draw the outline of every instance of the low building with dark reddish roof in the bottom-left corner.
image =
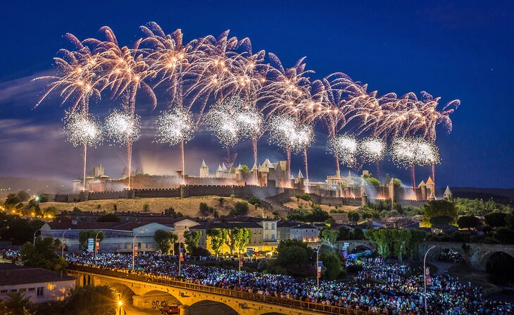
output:
M 0 299 L 21 292 L 32 303 L 62 300 L 75 288 L 75 278 L 43 268 L 0 264 Z

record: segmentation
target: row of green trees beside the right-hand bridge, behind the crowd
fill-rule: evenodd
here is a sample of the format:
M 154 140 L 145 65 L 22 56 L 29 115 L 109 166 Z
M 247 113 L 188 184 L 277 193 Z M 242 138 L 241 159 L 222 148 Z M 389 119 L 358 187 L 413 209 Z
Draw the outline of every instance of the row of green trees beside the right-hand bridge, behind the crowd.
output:
M 425 240 L 423 230 L 406 230 L 403 228 L 368 228 L 365 237 L 377 245 L 377 252 L 382 257 L 394 253 L 399 261 L 408 254 L 413 259 L 418 254 L 419 245 Z

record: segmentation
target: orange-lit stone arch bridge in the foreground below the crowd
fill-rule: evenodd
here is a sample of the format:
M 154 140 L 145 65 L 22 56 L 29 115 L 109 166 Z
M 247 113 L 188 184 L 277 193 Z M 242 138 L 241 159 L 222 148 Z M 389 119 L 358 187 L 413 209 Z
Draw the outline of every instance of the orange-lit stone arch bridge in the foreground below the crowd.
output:
M 100 268 L 73 266 L 68 268 L 67 273 L 77 278 L 77 286 L 108 285 L 122 292 L 130 290 L 134 294 L 133 306 L 140 309 L 156 309 L 165 304 L 180 304 L 180 315 L 206 314 L 206 312 L 210 315 L 378 315 L 368 311 Z

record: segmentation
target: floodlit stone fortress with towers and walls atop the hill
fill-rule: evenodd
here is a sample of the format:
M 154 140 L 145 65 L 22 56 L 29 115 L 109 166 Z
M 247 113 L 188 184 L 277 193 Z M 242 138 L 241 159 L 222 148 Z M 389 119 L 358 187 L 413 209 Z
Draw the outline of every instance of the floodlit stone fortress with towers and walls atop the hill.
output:
M 110 178 L 101 164 L 94 166 L 86 178 L 86 189 L 82 190 L 82 180 L 73 180 L 72 194 L 58 194 L 56 201 L 73 202 L 92 199 L 115 199 L 130 197 L 189 197 L 192 195 L 216 194 L 220 196 L 251 197 L 253 194 L 266 199 L 275 195 L 294 196 L 303 192 L 313 194 L 317 203 L 363 205 L 368 201 L 392 199 L 402 204 L 422 204 L 437 199 L 436 185 L 432 178 L 422 180 L 413 189 L 403 187 L 398 180 L 387 178 L 387 183 L 370 185 L 366 180 L 372 175 L 363 171 L 361 175 L 329 175 L 324 182 L 304 180 L 299 171 L 296 178 L 292 175 L 287 180 L 289 170 L 287 161 L 272 162 L 265 159 L 262 164 L 252 168 L 242 166 L 230 168 L 219 163 L 215 172 L 203 160 L 199 175 L 184 175 L 177 170 L 177 175 L 149 175 L 138 166 L 131 175 L 132 187 L 127 189 L 128 170 L 125 168 L 120 178 Z M 388 176 L 387 176 L 388 177 Z M 199 189 L 201 187 L 201 189 Z M 282 195 L 282 197 L 284 197 Z M 442 196 L 451 199 L 449 187 Z

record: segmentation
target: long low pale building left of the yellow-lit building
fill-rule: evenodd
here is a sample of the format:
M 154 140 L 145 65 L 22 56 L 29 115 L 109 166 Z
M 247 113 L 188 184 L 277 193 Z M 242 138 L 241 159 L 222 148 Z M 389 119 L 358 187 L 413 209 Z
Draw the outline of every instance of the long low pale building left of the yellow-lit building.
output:
M 139 252 L 155 252 L 155 231 L 173 231 L 173 228 L 155 222 L 48 222 L 42 226 L 41 236 L 63 239 L 68 252 L 80 252 L 86 249 L 79 242 L 82 230 L 102 231 L 104 240 L 100 242 L 99 252 L 132 252 L 136 235 L 135 246 Z

